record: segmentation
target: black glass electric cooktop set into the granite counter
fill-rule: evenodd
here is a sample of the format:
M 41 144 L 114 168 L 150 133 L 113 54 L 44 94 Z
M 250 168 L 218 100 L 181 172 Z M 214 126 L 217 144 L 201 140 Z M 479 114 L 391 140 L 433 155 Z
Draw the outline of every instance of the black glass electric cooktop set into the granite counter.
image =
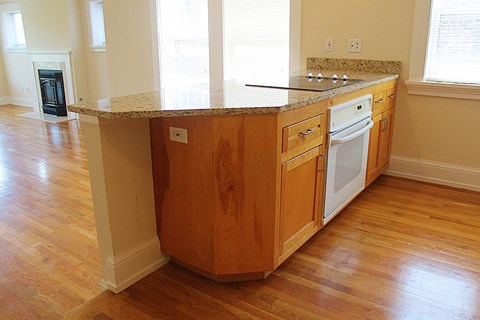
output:
M 340 87 L 346 87 L 358 82 L 362 79 L 347 79 L 342 78 L 309 78 L 306 76 L 293 76 L 284 81 L 279 80 L 273 83 L 247 83 L 249 87 L 263 87 L 263 88 L 277 88 L 277 89 L 294 89 L 305 91 L 328 91 Z

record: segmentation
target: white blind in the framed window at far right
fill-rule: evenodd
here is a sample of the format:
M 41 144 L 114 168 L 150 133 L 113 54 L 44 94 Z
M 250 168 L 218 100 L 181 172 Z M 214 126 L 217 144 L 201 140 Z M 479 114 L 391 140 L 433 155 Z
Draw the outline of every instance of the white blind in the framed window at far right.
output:
M 480 1 L 432 0 L 425 80 L 480 84 Z

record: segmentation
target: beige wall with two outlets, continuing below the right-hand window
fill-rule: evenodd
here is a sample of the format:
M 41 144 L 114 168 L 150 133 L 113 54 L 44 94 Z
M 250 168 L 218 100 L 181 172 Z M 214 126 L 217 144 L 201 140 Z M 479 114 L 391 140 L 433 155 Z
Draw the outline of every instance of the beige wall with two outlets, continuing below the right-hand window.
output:
M 402 61 L 392 156 L 480 168 L 478 101 L 406 93 L 414 9 L 414 0 L 303 0 L 302 60 Z M 335 39 L 334 52 L 324 51 L 327 37 Z M 362 39 L 361 53 L 347 52 L 350 38 Z

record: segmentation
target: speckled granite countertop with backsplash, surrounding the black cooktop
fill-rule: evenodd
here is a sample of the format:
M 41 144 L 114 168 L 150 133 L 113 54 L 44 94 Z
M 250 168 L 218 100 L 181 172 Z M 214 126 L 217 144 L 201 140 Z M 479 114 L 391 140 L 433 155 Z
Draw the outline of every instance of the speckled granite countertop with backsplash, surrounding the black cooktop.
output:
M 364 79 L 364 81 L 325 92 L 258 88 L 235 81 L 226 81 L 220 89 L 195 86 L 160 90 L 69 105 L 68 110 L 106 119 L 279 113 L 399 77 L 399 68 L 398 71 L 394 68 L 390 70 L 384 64 L 380 64 L 380 68 L 389 71 L 388 73 L 377 72 L 377 70 L 367 72 L 363 67 L 361 70 L 355 70 L 348 63 L 339 66 L 339 59 L 335 60 L 337 64 L 328 61 L 329 66 L 334 66 L 335 69 L 326 69 L 324 65 L 319 65 L 317 60 L 309 60 L 307 71 L 322 72 L 324 75 L 337 73 L 341 76 L 346 73 L 344 70 L 348 70 L 350 78 Z M 348 60 L 341 60 L 341 62 L 345 61 Z M 378 64 L 376 61 L 375 63 Z M 356 65 L 364 66 L 358 63 Z M 305 71 L 302 71 L 302 74 L 305 74 Z

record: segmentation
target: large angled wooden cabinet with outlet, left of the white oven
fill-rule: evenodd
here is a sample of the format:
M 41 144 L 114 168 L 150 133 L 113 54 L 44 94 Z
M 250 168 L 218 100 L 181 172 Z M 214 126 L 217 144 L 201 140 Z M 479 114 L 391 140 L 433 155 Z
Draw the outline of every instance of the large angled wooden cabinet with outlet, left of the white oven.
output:
M 222 282 L 263 278 L 307 241 L 323 207 L 327 105 L 150 120 L 162 251 Z

